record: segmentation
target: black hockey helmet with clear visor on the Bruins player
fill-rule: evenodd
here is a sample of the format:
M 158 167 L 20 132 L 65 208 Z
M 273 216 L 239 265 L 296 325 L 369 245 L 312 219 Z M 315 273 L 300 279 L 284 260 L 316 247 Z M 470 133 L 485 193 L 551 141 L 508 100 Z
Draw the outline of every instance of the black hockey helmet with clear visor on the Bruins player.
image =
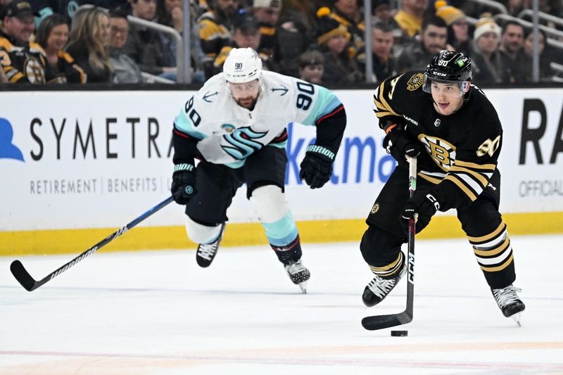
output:
M 456 82 L 462 94 L 469 93 L 473 69 L 471 59 L 464 53 L 443 49 L 426 66 L 422 89 L 431 93 L 431 82 Z

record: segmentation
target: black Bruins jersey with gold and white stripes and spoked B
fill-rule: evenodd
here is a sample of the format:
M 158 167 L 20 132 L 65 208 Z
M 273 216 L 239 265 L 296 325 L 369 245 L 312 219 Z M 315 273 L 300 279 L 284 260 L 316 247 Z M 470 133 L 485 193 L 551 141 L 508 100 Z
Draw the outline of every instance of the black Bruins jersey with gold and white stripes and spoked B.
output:
M 442 211 L 459 208 L 475 201 L 493 174 L 498 175 L 502 127 L 479 88 L 472 86 L 462 108 L 444 116 L 434 110 L 431 95 L 422 90 L 423 82 L 422 70 L 381 82 L 374 93 L 374 112 L 381 125 L 392 121 L 418 139 L 424 146 L 418 177 L 436 185 Z

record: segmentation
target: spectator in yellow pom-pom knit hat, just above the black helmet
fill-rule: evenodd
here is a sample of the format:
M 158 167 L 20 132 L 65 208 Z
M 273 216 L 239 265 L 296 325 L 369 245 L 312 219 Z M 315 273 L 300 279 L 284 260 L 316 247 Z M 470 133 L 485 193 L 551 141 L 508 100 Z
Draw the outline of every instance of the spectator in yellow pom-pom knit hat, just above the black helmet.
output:
M 453 46 L 455 51 L 471 56 L 473 51 L 473 41 L 469 34 L 469 23 L 465 13 L 455 6 L 450 6 L 444 0 L 434 3 L 436 15 L 445 21 L 448 26 L 448 44 Z

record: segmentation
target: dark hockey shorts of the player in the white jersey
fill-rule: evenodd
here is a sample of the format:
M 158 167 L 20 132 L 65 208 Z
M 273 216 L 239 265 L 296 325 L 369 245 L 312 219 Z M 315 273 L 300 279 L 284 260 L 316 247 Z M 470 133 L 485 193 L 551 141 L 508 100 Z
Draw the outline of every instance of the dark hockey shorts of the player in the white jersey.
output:
M 196 195 L 186 205 L 186 215 L 203 225 L 216 226 L 228 220 L 227 208 L 246 182 L 246 198 L 264 185 L 284 191 L 287 156 L 285 148 L 265 146 L 246 158 L 240 168 L 201 161 L 196 168 Z

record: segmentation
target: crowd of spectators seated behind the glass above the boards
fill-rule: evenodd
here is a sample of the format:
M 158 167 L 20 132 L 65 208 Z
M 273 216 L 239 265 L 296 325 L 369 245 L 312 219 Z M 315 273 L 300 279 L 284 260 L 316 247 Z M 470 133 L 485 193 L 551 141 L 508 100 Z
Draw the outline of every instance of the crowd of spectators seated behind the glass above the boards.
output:
M 530 0 L 499 2 L 514 16 L 531 7 Z M 0 0 L 0 82 L 175 82 L 179 73 L 175 39 L 146 22 L 182 34 L 183 4 L 183 0 Z M 474 1 L 372 0 L 371 25 L 364 22 L 361 0 L 190 4 L 192 83 L 203 83 L 220 72 L 236 47 L 258 51 L 267 70 L 326 85 L 357 84 L 367 78 L 378 82 L 423 69 L 441 49 L 469 55 L 477 84 L 532 81 L 531 30 L 517 20 L 497 23 L 491 8 Z M 562 1 L 540 0 L 540 11 L 561 17 Z M 146 22 L 132 22 L 128 15 Z M 371 30 L 371 46 L 365 44 L 366 27 Z M 562 64 L 563 52 L 547 43 L 548 37 L 557 37 L 540 31 L 540 80 L 548 82 L 557 75 L 550 63 Z M 367 53 L 371 77 L 365 76 Z

